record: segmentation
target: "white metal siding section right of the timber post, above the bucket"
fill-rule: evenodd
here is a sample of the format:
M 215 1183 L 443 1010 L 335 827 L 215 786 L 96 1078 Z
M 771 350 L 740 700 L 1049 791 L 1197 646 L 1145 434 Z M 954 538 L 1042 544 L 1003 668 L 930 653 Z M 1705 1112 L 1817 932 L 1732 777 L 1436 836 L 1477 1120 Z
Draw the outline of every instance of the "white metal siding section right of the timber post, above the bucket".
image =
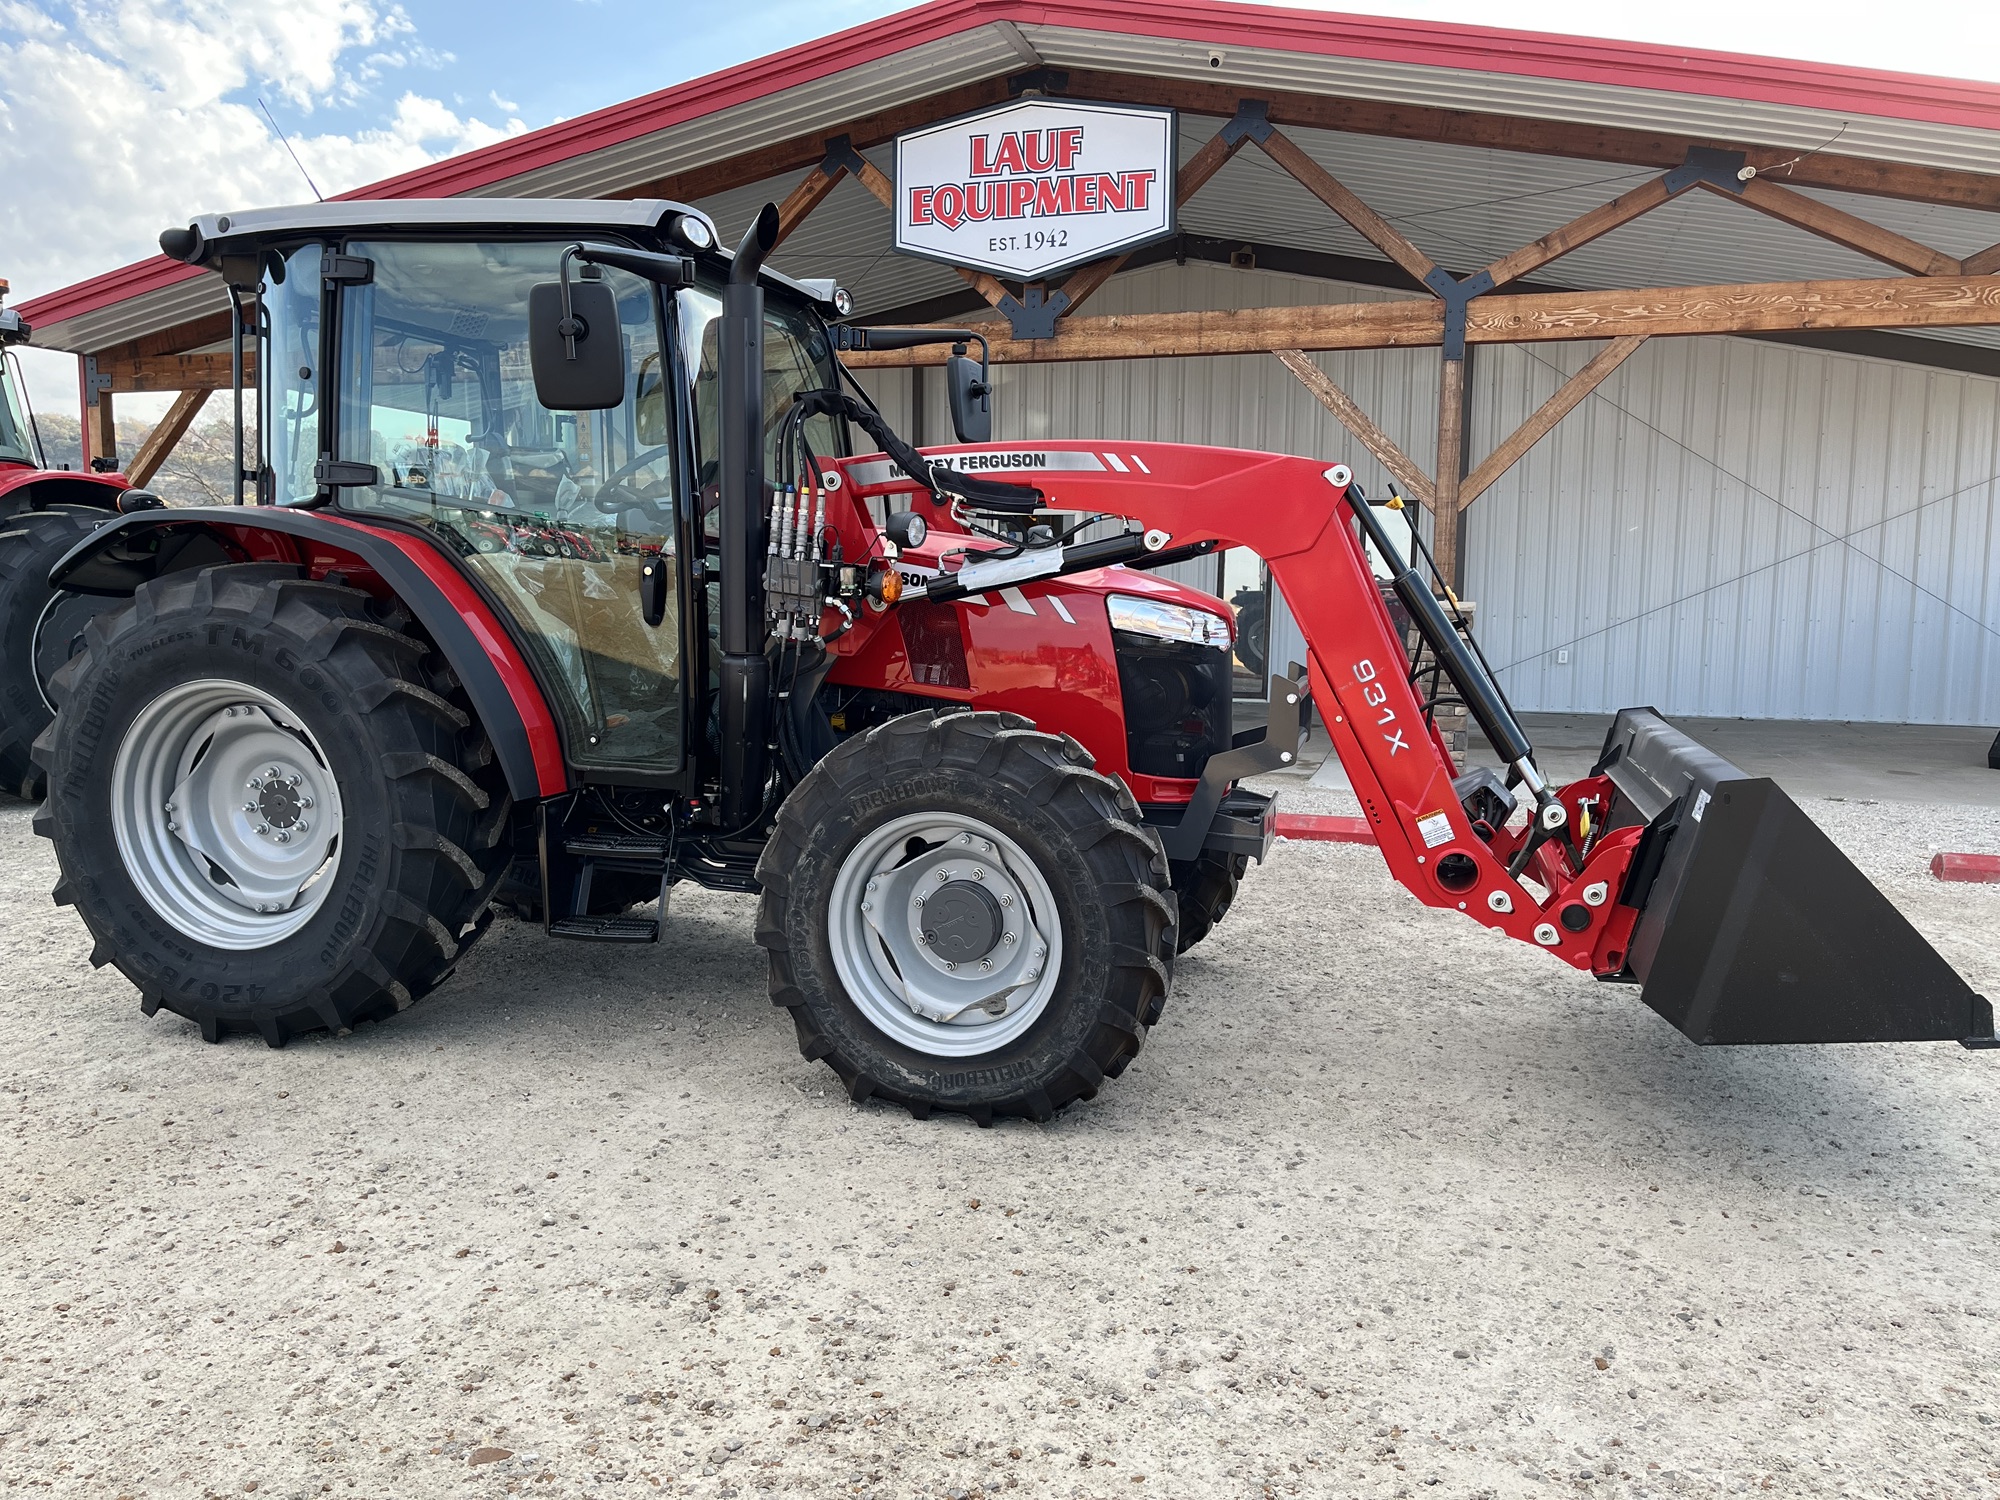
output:
M 1474 452 L 1594 348 L 1480 348 Z M 1466 512 L 1466 588 L 1524 710 L 1992 724 L 1996 474 L 2000 380 L 1656 340 Z

